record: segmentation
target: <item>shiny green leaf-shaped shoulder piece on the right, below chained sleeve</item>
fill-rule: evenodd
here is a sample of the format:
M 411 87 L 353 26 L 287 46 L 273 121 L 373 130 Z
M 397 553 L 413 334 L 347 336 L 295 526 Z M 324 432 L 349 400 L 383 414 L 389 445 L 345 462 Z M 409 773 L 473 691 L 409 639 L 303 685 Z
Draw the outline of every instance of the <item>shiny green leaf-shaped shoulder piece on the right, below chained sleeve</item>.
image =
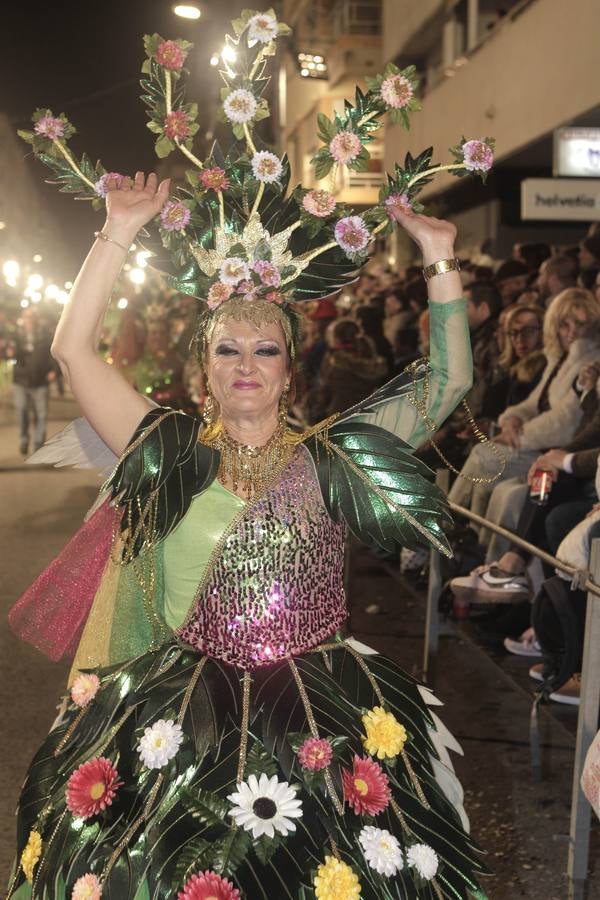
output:
M 446 497 L 408 444 L 348 419 L 313 434 L 305 445 L 330 515 L 359 540 L 388 551 L 430 543 L 451 555 Z

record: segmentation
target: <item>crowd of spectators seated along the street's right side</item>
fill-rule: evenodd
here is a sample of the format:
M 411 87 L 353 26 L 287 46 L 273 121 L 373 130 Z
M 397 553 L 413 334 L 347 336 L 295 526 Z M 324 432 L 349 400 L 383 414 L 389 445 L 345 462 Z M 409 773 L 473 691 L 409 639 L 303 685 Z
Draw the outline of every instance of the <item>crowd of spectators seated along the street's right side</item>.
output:
M 432 468 L 441 465 L 441 453 L 460 472 L 449 493 L 453 503 L 575 565 L 565 554 L 585 553 L 590 535 L 600 534 L 600 231 L 592 226 L 577 246 L 515 245 L 508 260 L 494 259 L 489 249 L 461 260 L 474 368 L 468 409 L 460 407 L 416 453 Z M 399 274 L 372 261 L 351 291 L 335 303 L 319 301 L 310 313 L 298 418 L 312 424 L 352 406 L 426 356 L 428 345 L 420 269 Z M 488 443 L 476 436 L 469 410 Z M 552 484 L 545 505 L 530 496 L 540 471 Z M 572 550 L 574 534 L 583 551 Z M 487 611 L 489 627 L 506 638 L 510 652 L 541 659 L 532 601 L 554 573 L 541 573 L 489 529 L 472 537 L 481 565 L 450 583 L 461 614 L 465 601 Z M 426 557 L 403 553 L 402 565 L 418 568 Z M 581 624 L 585 596 L 573 592 L 571 601 Z M 551 678 L 550 664 L 544 657 L 530 674 Z M 578 702 L 576 671 L 552 684 L 552 699 Z

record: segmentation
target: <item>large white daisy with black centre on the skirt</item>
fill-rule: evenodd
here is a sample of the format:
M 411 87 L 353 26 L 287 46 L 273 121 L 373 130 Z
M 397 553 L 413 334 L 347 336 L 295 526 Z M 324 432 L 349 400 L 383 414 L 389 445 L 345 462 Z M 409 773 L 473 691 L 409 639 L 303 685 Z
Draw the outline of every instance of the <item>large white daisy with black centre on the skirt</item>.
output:
M 236 825 L 252 831 L 254 840 L 263 834 L 273 838 L 276 831 L 284 835 L 295 831 L 296 824 L 291 820 L 302 816 L 302 801 L 296 798 L 296 789 L 287 781 L 278 781 L 277 775 L 269 778 L 264 772 L 260 779 L 250 775 L 227 799 L 235 804 L 229 815 Z

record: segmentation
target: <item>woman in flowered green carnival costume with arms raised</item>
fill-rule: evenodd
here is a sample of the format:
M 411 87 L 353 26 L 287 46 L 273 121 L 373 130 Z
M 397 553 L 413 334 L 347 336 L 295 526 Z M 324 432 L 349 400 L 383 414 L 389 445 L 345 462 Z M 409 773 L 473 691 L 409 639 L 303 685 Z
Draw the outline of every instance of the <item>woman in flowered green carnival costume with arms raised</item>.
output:
M 26 776 L 9 897 L 481 898 L 486 869 L 447 752 L 459 748 L 435 698 L 339 629 L 347 530 L 449 553 L 445 498 L 413 449 L 469 388 L 470 347 L 455 229 L 414 198 L 437 168 L 485 174 L 492 148 L 463 139 L 440 167 L 431 151 L 408 156 L 362 216 L 326 190 L 286 195 L 288 162 L 257 149 L 254 125 L 268 112 L 265 61 L 289 29 L 272 11 L 233 28 L 223 114 L 238 143 L 205 161 L 182 89 L 190 45 L 146 38 L 157 152 L 193 165 L 172 199 L 154 174 L 75 159 L 64 116 L 38 110 L 22 133 L 63 190 L 107 209 L 54 343 L 87 422 L 39 459 L 112 472 L 11 611 L 18 634 L 75 660 Z M 388 66 L 342 115 L 321 115 L 317 177 L 365 166 L 383 114 L 408 125 L 415 88 L 412 69 Z M 161 240 L 145 231 L 153 220 Z M 302 301 L 354 279 L 397 223 L 423 254 L 429 363 L 294 433 Z M 151 406 L 96 352 L 140 230 L 168 283 L 206 300 L 203 420 Z

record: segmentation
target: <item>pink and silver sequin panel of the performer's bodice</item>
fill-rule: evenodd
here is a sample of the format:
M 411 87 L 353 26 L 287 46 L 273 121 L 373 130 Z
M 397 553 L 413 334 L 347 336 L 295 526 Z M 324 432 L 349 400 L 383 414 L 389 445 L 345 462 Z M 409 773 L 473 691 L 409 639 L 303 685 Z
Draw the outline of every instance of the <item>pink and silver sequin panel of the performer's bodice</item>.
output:
M 233 527 L 179 637 L 244 669 L 305 653 L 346 618 L 343 570 L 344 526 L 300 447 Z

